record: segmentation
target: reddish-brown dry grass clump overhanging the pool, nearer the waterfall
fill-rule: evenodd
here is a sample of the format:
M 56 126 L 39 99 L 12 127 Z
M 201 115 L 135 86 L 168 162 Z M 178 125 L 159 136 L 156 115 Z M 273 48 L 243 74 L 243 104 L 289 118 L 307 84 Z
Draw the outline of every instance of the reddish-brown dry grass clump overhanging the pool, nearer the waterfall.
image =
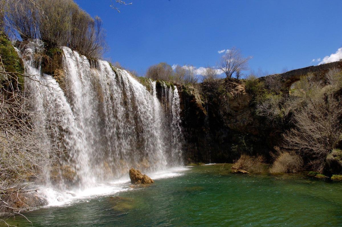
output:
M 249 156 L 241 155 L 241 157 L 234 162 L 233 167 L 241 170 L 246 170 L 250 173 L 260 173 L 263 170 L 263 163 L 265 158 L 263 156 Z

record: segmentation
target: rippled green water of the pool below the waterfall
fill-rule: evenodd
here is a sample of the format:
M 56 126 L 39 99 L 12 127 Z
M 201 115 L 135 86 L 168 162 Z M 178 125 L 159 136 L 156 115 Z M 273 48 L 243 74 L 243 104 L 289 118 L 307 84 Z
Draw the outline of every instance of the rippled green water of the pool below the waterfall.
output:
M 63 227 L 342 226 L 342 183 L 229 172 L 230 165 L 196 166 L 148 187 L 26 216 L 33 226 Z M 20 217 L 13 224 L 32 226 Z

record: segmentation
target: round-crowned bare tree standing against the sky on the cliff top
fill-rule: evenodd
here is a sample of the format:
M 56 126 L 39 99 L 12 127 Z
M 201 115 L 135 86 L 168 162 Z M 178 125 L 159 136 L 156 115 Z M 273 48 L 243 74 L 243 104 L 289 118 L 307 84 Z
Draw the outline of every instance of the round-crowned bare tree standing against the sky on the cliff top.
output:
M 247 70 L 251 58 L 243 57 L 241 51 L 233 47 L 221 57 L 218 65 L 226 77 L 231 78 L 235 72 Z

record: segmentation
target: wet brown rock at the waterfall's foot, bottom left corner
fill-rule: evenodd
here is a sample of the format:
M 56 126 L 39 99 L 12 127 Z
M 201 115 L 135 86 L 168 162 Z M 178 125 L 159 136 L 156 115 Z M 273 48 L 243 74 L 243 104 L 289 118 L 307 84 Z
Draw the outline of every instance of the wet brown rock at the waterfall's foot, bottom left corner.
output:
M 6 206 L 8 207 L 0 206 L 0 213 L 28 211 L 48 204 L 48 201 L 39 197 L 35 191 L 9 193 L 3 195 L 1 200 L 7 203 Z

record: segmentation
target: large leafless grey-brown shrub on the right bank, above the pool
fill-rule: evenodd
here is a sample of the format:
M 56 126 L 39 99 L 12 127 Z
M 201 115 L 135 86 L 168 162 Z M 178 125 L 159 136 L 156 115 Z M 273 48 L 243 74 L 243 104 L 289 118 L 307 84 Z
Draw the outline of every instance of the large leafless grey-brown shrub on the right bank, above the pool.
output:
M 327 95 L 310 99 L 292 112 L 295 128 L 284 134 L 286 147 L 309 157 L 313 168 L 321 172 L 328 153 L 342 133 L 341 101 Z

